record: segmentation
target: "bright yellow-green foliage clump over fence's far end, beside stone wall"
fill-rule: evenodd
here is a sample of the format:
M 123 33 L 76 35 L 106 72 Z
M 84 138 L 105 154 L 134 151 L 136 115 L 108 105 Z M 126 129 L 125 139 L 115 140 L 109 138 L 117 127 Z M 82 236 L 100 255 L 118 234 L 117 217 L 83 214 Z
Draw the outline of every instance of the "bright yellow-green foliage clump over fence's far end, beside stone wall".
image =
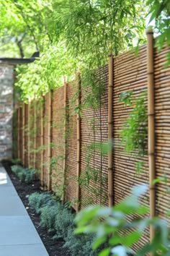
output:
M 74 70 L 75 61 L 68 61 L 66 46 L 60 43 L 45 48 L 32 64 L 17 67 L 15 86 L 23 101 L 31 101 L 63 85 L 65 75 L 72 80 Z

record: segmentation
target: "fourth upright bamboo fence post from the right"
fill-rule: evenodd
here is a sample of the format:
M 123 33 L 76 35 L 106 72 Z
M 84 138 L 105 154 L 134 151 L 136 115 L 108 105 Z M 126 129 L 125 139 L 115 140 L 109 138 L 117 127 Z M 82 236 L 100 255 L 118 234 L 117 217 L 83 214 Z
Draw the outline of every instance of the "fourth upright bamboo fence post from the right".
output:
M 66 198 L 66 132 L 67 132 L 67 82 L 64 78 L 64 148 L 63 148 L 63 198 L 62 201 L 65 201 Z

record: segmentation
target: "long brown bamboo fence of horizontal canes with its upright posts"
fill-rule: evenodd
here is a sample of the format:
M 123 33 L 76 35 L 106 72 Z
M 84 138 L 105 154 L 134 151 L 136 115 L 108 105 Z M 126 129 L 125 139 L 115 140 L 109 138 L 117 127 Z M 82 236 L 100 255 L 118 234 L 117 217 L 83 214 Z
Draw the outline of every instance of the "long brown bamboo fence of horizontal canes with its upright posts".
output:
M 144 181 L 150 184 L 150 192 L 141 201 L 150 205 L 151 218 L 166 218 L 169 200 L 166 191 L 170 186 L 170 67 L 165 67 L 165 63 L 170 48 L 164 47 L 158 53 L 153 48 L 151 30 L 147 38 L 148 43 L 139 48 L 138 56 L 132 51 L 114 59 L 110 55 L 109 63 L 97 69 L 104 86 L 100 95 L 102 103 L 97 109 L 81 108 L 81 116 L 73 112 L 86 102 L 86 95 L 94 96 L 90 86 L 84 87 L 78 74 L 76 80 L 65 81 L 63 87 L 53 91 L 53 101 L 50 93 L 44 95 L 40 136 L 37 137 L 40 142 L 35 145 L 35 148 L 37 145 L 44 147 L 40 155 L 41 185 L 56 194 L 61 189 L 63 202 L 71 201 L 76 211 L 90 204 L 112 207 L 128 196 L 133 186 Z M 138 98 L 145 90 L 148 91 L 148 154 L 136 157 L 125 152 L 120 143 L 120 131 L 133 110 L 133 106 L 120 102 L 120 94 L 133 91 L 133 96 Z M 78 93 L 74 94 L 75 91 Z M 76 101 L 71 103 L 73 97 Z M 18 156 L 24 163 L 24 106 L 18 109 L 17 127 Z M 101 156 L 94 145 L 104 145 L 104 142 L 112 143 L 113 149 Z M 50 169 L 47 163 L 52 158 L 54 166 Z M 135 170 L 138 161 L 144 163 L 141 174 L 136 174 Z M 153 179 L 164 177 L 164 174 L 167 184 L 155 187 Z M 133 249 L 140 249 L 141 244 L 153 239 L 153 235 L 153 229 L 147 231 Z

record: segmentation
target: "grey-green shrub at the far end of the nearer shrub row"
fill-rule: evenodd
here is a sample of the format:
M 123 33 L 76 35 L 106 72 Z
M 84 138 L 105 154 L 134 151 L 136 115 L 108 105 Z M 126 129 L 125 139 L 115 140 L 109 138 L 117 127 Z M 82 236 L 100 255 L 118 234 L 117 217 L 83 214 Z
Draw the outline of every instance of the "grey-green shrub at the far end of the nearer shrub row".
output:
M 30 207 L 35 210 L 36 213 L 40 214 L 41 210 L 45 205 L 50 205 L 54 204 L 54 200 L 52 200 L 52 197 L 49 193 L 33 193 L 30 195 L 28 198 Z

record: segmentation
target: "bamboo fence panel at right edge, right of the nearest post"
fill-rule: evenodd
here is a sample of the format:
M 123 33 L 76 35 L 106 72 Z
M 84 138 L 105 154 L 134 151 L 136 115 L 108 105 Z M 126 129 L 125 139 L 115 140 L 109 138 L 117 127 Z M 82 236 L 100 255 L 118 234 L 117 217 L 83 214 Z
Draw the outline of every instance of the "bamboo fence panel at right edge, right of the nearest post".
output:
M 166 54 L 170 47 L 155 51 L 155 111 L 156 111 L 156 177 L 165 178 L 156 186 L 156 213 L 166 218 L 170 187 L 170 68 Z

